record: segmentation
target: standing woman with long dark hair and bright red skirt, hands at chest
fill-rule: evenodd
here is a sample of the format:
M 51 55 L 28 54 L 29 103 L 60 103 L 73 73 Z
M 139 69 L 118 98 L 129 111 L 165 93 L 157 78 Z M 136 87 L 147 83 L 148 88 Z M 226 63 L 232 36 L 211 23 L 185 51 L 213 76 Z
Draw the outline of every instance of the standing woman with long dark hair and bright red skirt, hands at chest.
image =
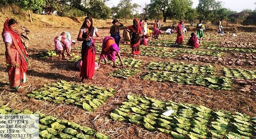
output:
M 85 17 L 84 23 L 77 36 L 77 41 L 83 41 L 81 51 L 83 64 L 80 72 L 82 82 L 84 82 L 85 78 L 92 79 L 94 76 L 96 52 L 94 39 L 101 39 L 98 34 L 98 29 L 93 27 L 92 17 Z

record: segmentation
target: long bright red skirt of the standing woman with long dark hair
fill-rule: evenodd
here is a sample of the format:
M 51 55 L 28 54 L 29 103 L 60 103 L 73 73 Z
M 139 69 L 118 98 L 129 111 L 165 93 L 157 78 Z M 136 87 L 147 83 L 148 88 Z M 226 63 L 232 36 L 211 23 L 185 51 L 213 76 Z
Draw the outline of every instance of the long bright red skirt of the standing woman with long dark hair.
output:
M 93 48 L 86 47 L 84 52 L 84 57 L 82 57 L 82 67 L 80 72 L 80 77 L 92 78 L 94 75 L 95 67 L 95 53 L 93 53 Z

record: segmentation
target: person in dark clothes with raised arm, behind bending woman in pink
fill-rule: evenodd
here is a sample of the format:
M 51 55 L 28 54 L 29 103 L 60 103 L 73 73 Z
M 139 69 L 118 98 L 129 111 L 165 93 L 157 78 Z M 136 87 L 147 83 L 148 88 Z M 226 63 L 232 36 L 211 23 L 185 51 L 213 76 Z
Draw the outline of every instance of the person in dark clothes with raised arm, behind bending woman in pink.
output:
M 120 25 L 118 25 L 118 23 Z M 117 46 L 119 47 L 119 42 L 121 39 L 121 36 L 119 34 L 119 27 L 122 27 L 123 24 L 120 23 L 117 19 L 113 19 L 112 24 L 113 25 L 110 27 L 109 33 L 111 34 L 110 36 L 114 38 L 114 41 L 116 42 Z

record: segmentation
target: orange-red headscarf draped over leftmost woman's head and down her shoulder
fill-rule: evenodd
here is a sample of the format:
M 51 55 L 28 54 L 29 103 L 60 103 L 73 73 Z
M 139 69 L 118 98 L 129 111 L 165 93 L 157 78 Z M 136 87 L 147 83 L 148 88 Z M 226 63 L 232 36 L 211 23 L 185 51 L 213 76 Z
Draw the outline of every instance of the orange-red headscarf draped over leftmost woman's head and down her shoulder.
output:
M 13 41 L 13 46 L 15 49 L 19 52 L 21 55 L 21 67 L 24 72 L 28 70 L 28 59 L 26 58 L 27 54 L 25 53 L 25 48 L 21 43 L 21 37 L 16 34 L 15 32 L 11 31 L 11 29 L 8 27 L 8 22 L 10 21 L 10 18 L 6 19 L 4 22 L 3 32 L 2 36 L 4 36 L 4 33 L 8 32 L 10 33 Z

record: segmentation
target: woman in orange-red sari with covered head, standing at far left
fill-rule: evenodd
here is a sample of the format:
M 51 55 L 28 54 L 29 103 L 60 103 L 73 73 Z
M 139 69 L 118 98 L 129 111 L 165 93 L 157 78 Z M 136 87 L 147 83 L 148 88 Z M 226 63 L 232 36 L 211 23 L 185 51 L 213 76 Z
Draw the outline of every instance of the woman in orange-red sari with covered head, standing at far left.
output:
M 28 59 L 21 37 L 16 33 L 17 22 L 15 19 L 6 19 L 2 32 L 5 43 L 5 58 L 11 88 L 21 92 L 21 87 L 26 87 L 26 72 Z

